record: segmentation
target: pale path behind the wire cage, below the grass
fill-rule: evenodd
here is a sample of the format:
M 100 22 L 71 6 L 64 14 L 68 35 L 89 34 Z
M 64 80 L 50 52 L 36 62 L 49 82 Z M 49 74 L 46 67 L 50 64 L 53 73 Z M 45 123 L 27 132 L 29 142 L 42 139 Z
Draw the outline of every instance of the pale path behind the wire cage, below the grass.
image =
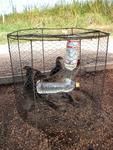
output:
M 89 45 L 90 42 L 90 45 Z M 98 62 L 103 62 L 105 58 L 105 47 L 104 47 L 104 39 L 100 41 L 100 46 L 104 51 L 100 48 L 99 50 L 99 58 Z M 44 43 L 44 55 L 45 55 L 45 68 L 50 69 L 54 63 L 54 60 L 57 56 L 65 55 L 65 41 L 53 41 Z M 109 51 L 108 51 L 108 61 L 112 61 L 113 58 L 113 38 L 110 37 L 109 40 Z M 15 74 L 20 72 L 20 63 L 19 56 L 17 54 L 18 47 L 17 45 L 11 45 L 11 50 L 13 51 L 13 64 Z M 22 67 L 24 65 L 31 65 L 31 52 L 30 52 L 30 44 L 29 43 L 21 43 L 21 59 L 22 59 Z M 83 62 L 89 64 L 95 62 L 96 50 L 97 50 L 97 41 L 83 41 L 82 42 L 82 58 Z M 42 43 L 34 42 L 33 43 L 33 55 L 34 55 L 34 66 L 38 69 L 42 69 L 43 60 L 42 60 Z M 48 57 L 49 56 L 49 57 Z M 38 66 L 37 66 L 38 64 Z M 49 68 L 47 68 L 49 66 Z M 0 77 L 11 75 L 11 67 L 10 67 L 10 58 L 8 52 L 8 45 L 0 45 Z

